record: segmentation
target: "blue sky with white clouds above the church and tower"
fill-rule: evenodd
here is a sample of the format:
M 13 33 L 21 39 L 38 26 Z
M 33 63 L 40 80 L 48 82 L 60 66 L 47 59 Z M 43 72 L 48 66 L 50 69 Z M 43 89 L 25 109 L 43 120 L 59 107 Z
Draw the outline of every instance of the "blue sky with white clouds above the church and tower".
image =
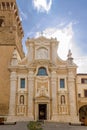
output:
M 24 38 L 43 35 L 60 41 L 58 54 L 67 58 L 68 49 L 80 62 L 87 59 L 87 0 L 17 0 Z M 64 51 L 62 51 L 64 50 Z M 79 63 L 78 63 L 79 64 Z

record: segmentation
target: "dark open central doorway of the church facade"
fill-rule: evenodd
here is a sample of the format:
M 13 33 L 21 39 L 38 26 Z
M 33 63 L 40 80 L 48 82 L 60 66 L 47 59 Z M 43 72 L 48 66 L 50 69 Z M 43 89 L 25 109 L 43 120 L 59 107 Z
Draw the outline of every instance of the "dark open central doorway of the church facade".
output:
M 39 104 L 39 120 L 47 119 L 47 104 Z

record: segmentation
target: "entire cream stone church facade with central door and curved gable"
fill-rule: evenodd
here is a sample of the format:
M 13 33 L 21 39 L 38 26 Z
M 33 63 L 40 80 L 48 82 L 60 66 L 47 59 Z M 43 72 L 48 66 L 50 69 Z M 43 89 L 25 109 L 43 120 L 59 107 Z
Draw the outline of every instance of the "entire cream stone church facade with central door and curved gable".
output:
M 9 65 L 9 118 L 79 121 L 75 90 L 77 66 L 70 50 L 66 61 L 58 57 L 58 45 L 56 39 L 43 36 L 27 39 L 27 56 L 19 62 L 14 50 Z

